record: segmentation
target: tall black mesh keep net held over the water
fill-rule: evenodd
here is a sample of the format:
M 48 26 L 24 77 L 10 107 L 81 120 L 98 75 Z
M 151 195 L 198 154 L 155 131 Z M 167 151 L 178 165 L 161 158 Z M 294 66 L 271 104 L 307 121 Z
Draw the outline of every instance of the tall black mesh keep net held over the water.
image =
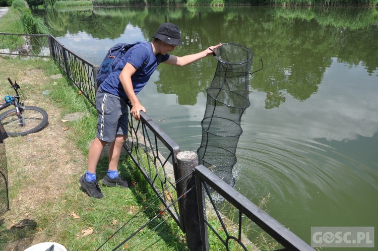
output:
M 223 43 L 214 52 L 218 60 L 214 79 L 207 89 L 207 103 L 202 126 L 199 163 L 234 186 L 232 168 L 236 147 L 243 130 L 241 115 L 250 105 L 248 76 L 253 52 L 240 44 Z

